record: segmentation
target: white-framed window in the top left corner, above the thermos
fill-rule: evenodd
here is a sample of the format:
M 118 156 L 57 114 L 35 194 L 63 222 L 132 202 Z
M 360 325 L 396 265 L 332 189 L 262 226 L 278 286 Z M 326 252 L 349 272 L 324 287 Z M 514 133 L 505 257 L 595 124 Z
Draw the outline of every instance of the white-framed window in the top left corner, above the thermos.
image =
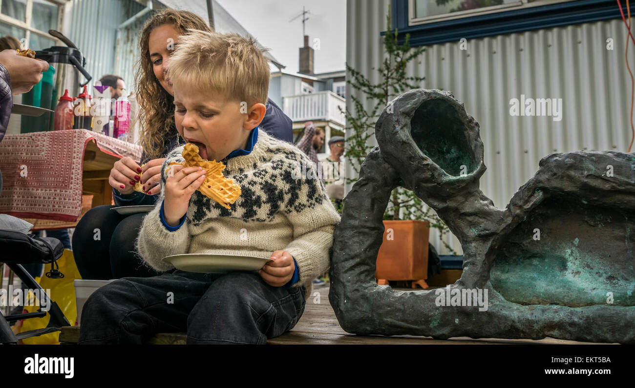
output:
M 53 0 L 1 0 L 0 35 L 17 37 L 23 48 L 55 46 L 48 30 L 59 30 L 62 8 Z

